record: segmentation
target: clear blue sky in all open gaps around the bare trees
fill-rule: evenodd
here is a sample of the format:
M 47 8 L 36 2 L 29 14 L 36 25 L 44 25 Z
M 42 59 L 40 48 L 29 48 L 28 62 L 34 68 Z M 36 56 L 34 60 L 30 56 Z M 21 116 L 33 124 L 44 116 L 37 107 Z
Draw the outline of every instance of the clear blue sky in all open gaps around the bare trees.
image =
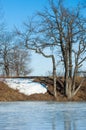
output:
M 67 4 L 75 5 L 78 1 L 80 0 L 70 0 Z M 48 5 L 48 0 L 0 0 L 0 4 L 7 27 L 11 31 L 14 26 L 21 27 L 27 17 L 35 14 L 36 11 L 43 10 L 44 6 Z M 33 53 L 31 67 L 33 68 L 32 75 L 46 75 L 52 70 L 52 63 L 50 59 Z

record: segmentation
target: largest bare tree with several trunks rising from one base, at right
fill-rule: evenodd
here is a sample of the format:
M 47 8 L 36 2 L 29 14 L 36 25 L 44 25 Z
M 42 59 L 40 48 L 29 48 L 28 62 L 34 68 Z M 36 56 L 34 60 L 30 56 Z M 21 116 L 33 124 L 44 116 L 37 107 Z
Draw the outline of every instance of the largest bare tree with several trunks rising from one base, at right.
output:
M 76 89 L 75 79 L 78 68 L 86 60 L 86 18 L 81 15 L 79 6 L 71 10 L 66 8 L 62 1 L 58 1 L 56 5 L 51 0 L 50 9 L 38 13 L 41 17 L 39 31 L 42 34 L 41 43 L 52 48 L 57 47 L 57 51 L 60 49 L 65 68 L 64 92 L 68 98 L 71 98 L 82 84 L 81 82 Z

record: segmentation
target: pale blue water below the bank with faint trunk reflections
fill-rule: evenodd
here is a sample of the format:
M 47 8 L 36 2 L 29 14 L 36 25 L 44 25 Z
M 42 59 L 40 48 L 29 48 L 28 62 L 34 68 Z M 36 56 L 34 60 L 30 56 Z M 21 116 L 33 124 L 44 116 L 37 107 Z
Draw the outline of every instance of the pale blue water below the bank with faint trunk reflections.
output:
M 86 103 L 0 103 L 0 130 L 86 130 Z

